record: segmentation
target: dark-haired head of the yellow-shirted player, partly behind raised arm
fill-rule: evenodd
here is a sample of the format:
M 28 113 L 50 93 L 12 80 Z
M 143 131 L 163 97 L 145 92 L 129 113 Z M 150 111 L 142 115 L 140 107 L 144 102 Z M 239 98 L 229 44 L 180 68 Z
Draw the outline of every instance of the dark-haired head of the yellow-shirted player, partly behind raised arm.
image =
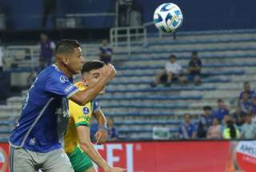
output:
M 102 61 L 86 61 L 82 65 L 82 81 L 87 87 L 92 87 L 94 84 L 98 83 L 102 76 L 102 68 L 104 63 Z

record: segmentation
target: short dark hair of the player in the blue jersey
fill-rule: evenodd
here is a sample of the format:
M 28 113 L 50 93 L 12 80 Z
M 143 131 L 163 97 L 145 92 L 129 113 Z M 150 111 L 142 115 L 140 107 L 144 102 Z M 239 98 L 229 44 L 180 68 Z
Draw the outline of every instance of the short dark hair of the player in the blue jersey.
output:
M 62 53 L 73 53 L 75 48 L 80 47 L 81 45 L 76 40 L 71 39 L 62 39 L 58 42 L 55 48 L 55 54 Z

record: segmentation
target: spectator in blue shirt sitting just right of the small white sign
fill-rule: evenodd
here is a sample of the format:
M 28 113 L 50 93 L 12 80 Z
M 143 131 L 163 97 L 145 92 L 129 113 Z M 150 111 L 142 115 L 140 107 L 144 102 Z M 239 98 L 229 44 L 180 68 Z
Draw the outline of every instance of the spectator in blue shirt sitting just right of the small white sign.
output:
M 195 139 L 197 135 L 194 123 L 190 121 L 190 115 L 185 115 L 185 121 L 179 127 L 179 138 L 180 139 Z

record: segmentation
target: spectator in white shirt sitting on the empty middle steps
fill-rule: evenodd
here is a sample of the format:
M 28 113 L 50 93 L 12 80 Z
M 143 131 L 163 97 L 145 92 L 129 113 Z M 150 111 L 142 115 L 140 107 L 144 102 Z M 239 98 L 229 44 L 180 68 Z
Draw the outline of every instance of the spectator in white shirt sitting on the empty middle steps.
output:
M 154 78 L 152 87 L 156 87 L 158 84 L 170 85 L 172 81 L 178 80 L 180 84 L 185 84 L 186 79 L 182 74 L 182 65 L 179 65 L 174 55 L 170 55 L 169 61 L 166 62 L 166 68 L 164 72 L 159 72 Z

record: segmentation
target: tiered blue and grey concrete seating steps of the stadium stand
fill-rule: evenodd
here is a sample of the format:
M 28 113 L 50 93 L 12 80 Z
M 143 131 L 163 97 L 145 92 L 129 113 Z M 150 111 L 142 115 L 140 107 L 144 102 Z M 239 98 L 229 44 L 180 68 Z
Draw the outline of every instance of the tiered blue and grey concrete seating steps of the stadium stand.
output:
M 210 105 L 216 108 L 218 98 L 230 103 L 231 110 L 234 110 L 243 82 L 256 83 L 255 42 L 256 30 L 246 29 L 183 32 L 177 34 L 176 41 L 170 36 L 159 38 L 150 35 L 147 45 L 132 44 L 130 56 L 121 44 L 114 49 L 113 57 L 117 77 L 108 86 L 106 94 L 98 96 L 102 110 L 106 115 L 114 116 L 121 139 L 152 139 L 153 127 L 168 127 L 174 136 L 182 115 L 189 113 L 196 122 L 198 115 L 202 114 L 202 107 Z M 98 58 L 98 45 L 85 47 L 87 59 Z M 12 57 L 9 60 L 16 63 L 15 68 L 9 64 L 10 72 L 24 72 L 23 79 L 16 76 L 16 82 L 26 85 L 24 77 L 29 73 L 26 68 L 31 65 L 31 57 L 38 56 L 38 48 L 23 46 L 10 49 L 13 54 L 8 54 Z M 150 87 L 155 73 L 164 68 L 170 54 L 175 54 L 186 68 L 194 50 L 198 51 L 203 64 L 201 85 Z M 28 52 L 30 56 L 27 56 Z M 19 115 L 26 92 L 24 90 L 22 96 L 10 97 L 6 105 L 0 106 L 0 116 L 4 119 L 0 123 L 1 139 L 6 140 L 14 126 L 14 117 Z

